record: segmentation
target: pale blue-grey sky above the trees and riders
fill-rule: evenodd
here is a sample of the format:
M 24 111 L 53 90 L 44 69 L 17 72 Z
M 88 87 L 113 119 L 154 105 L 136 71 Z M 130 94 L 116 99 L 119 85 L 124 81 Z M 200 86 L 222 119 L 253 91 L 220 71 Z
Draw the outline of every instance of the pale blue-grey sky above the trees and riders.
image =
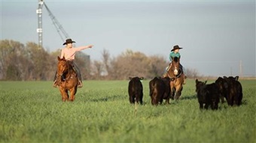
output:
M 0 0 L 1 40 L 38 43 L 38 0 Z M 75 46 L 102 60 L 126 52 L 160 55 L 178 45 L 184 68 L 203 76 L 256 76 L 255 1 L 44 0 Z M 43 8 L 43 46 L 64 43 Z

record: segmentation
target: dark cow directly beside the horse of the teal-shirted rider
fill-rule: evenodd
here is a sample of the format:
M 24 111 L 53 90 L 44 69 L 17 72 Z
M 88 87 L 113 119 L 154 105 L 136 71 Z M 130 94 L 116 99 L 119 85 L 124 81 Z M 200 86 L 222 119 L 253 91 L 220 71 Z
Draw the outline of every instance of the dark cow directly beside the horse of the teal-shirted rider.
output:
M 151 97 L 151 104 L 157 106 L 158 103 L 162 104 L 163 99 L 169 104 L 170 98 L 170 79 L 169 77 L 161 78 L 154 77 L 149 82 L 149 96 Z

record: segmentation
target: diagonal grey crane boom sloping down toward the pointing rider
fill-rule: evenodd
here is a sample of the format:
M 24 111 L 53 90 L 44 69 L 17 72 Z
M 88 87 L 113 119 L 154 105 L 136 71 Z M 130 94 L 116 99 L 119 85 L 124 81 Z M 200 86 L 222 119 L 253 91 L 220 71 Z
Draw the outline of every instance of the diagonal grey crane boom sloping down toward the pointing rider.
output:
M 53 16 L 53 13 L 51 13 L 50 9 L 47 7 L 47 5 L 44 3 L 44 6 L 46 8 L 46 10 L 49 13 L 50 19 L 52 19 L 53 21 L 53 25 L 55 26 L 59 36 L 61 37 L 61 39 L 64 41 L 65 39 L 62 37 L 62 34 L 64 35 L 64 37 L 67 39 L 69 38 L 69 34 L 64 30 L 64 28 L 62 28 L 62 25 L 60 25 L 59 21 L 56 19 L 55 16 Z M 60 33 L 62 32 L 62 34 Z

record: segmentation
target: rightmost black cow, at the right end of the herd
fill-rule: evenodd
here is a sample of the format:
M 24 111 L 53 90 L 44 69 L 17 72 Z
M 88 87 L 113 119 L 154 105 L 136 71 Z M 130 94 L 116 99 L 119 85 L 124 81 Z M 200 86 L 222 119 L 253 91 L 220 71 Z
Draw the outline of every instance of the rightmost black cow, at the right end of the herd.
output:
M 215 83 L 218 84 L 222 96 L 226 98 L 229 106 L 240 106 L 242 103 L 242 85 L 238 79 L 239 76 L 224 76 L 223 78 L 219 77 L 215 81 Z

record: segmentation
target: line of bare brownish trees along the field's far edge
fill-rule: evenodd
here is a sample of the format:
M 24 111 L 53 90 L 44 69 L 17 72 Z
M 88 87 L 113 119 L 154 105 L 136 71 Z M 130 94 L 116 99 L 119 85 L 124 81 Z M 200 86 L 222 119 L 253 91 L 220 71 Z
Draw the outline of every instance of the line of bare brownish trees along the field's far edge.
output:
M 14 40 L 0 40 L 0 80 L 53 80 L 60 49 L 47 52 L 38 44 L 26 44 Z M 102 59 L 90 61 L 90 55 L 76 54 L 75 63 L 84 80 L 123 80 L 129 76 L 152 79 L 162 76 L 169 61 L 159 55 L 147 56 L 142 52 L 125 52 L 111 57 L 108 50 L 101 53 Z M 196 70 L 187 69 L 187 76 L 197 76 Z

